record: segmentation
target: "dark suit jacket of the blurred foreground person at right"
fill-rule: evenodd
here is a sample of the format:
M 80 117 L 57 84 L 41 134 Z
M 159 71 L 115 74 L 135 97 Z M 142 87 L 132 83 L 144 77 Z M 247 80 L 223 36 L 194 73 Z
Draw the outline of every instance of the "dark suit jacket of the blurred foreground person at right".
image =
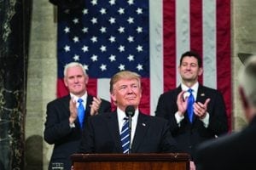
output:
M 195 150 L 196 170 L 255 169 L 256 117 L 240 133 L 202 143 Z

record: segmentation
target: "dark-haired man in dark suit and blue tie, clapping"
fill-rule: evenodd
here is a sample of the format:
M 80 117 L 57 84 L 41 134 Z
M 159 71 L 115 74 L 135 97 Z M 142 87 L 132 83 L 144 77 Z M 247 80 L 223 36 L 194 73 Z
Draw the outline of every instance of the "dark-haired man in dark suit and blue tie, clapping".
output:
M 182 54 L 178 66 L 182 82 L 177 88 L 160 95 L 155 111 L 156 116 L 170 122 L 170 131 L 178 147 L 188 152 L 192 159 L 197 144 L 228 132 L 222 94 L 198 82 L 203 72 L 201 65 L 199 54 L 192 51 Z M 190 108 L 191 119 L 189 89 L 192 91 L 190 97 L 193 104 Z

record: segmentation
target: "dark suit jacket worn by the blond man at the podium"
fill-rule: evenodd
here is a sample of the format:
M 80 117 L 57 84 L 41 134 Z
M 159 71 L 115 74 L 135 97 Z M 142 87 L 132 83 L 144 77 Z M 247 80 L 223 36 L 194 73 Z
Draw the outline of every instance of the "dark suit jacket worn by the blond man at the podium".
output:
M 132 128 L 132 127 L 131 127 Z M 139 113 L 131 153 L 177 152 L 168 122 Z M 91 116 L 86 124 L 80 153 L 123 153 L 117 112 Z

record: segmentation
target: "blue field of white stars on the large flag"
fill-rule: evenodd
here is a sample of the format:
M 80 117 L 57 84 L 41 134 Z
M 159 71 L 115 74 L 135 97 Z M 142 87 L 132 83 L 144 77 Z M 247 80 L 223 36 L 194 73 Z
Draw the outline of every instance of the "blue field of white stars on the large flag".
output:
M 100 1 L 89 0 L 89 3 L 89 6 L 96 8 Z M 126 69 L 133 69 L 142 72 L 144 67 L 146 67 L 143 65 L 142 61 L 139 61 L 144 61 L 145 59 L 137 59 L 137 57 L 141 58 L 148 55 L 140 55 L 146 51 L 146 46 L 143 45 L 144 40 L 142 36 L 144 36 L 144 31 L 147 31 L 146 33 L 148 33 L 148 30 L 145 30 L 148 29 L 148 26 L 137 23 L 137 20 L 143 20 L 141 17 L 143 17 L 143 14 L 148 9 L 135 5 L 135 0 L 125 0 L 125 5 L 119 7 L 116 7 L 117 3 L 119 3 L 118 0 L 107 0 L 105 3 L 107 6 L 95 9 L 97 15 L 90 15 L 90 8 L 81 8 L 79 11 L 81 16 L 78 16 L 77 14 L 74 14 L 73 16 L 69 15 L 68 20 L 71 21 L 71 24 L 69 23 L 70 26 L 67 23 L 66 26 L 63 26 L 61 29 L 61 33 L 64 34 L 65 37 L 69 37 L 69 42 L 63 44 L 61 51 L 63 51 L 66 56 L 68 55 L 67 57 L 70 57 L 73 61 L 84 62 L 83 67 L 85 71 L 92 71 L 91 69 L 96 68 L 93 72 L 102 72 L 102 74 L 99 75 L 105 76 L 105 73 L 108 71 L 112 72 L 116 70 L 124 71 Z M 131 9 L 126 8 L 127 6 Z M 71 12 L 72 11 L 70 11 L 70 13 Z M 116 13 L 116 15 L 108 14 L 110 12 Z M 133 15 L 131 15 L 130 12 Z M 102 20 L 105 21 L 102 22 Z M 119 20 L 123 20 L 123 22 L 119 23 Z M 80 26 L 82 21 L 84 24 L 83 26 Z M 135 24 L 137 26 L 134 26 Z M 89 27 L 90 25 L 92 25 L 91 28 Z M 129 26 L 134 27 L 128 28 Z M 137 34 L 137 36 L 128 33 L 130 30 Z M 93 33 L 95 31 L 97 34 Z M 79 37 L 77 34 L 79 32 L 82 33 L 82 37 Z M 73 51 L 73 46 L 77 46 L 80 43 L 81 45 L 77 48 L 76 52 Z M 129 51 L 130 48 L 132 48 L 131 52 L 128 52 L 128 47 Z M 139 53 L 139 55 L 137 56 L 137 54 L 134 54 L 133 52 Z M 122 59 L 119 59 L 120 54 L 122 55 Z M 89 59 L 87 61 L 82 61 L 85 55 L 88 55 L 87 57 Z M 132 65 L 126 65 L 128 63 Z

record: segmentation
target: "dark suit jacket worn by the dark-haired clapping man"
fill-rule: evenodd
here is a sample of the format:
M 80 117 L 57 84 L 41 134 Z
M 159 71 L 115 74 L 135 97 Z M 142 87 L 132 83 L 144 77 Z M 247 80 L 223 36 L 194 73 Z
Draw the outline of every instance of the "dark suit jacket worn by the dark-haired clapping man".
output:
M 215 89 L 199 85 L 196 102 L 204 103 L 207 98 L 211 99 L 207 106 L 207 112 L 210 115 L 209 126 L 204 127 L 203 122 L 197 116 L 194 116 L 194 122 L 191 124 L 187 113 L 185 113 L 179 127 L 175 113 L 177 112 L 177 94 L 181 91 L 182 88 L 179 86 L 161 94 L 155 115 L 164 117 L 170 122 L 170 130 L 178 147 L 191 154 L 193 158 L 194 148 L 197 144 L 212 139 L 215 135 L 228 132 L 227 115 L 222 94 Z

